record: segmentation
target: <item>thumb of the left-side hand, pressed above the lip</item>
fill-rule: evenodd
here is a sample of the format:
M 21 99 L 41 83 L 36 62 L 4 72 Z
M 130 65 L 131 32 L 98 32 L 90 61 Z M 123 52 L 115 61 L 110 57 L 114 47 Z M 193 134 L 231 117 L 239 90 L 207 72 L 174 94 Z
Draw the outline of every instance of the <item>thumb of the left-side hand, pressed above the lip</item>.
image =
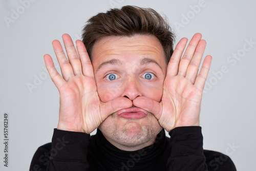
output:
M 101 116 L 103 117 L 103 119 L 105 119 L 112 113 L 115 113 L 121 109 L 131 108 L 132 106 L 132 100 L 125 97 L 118 97 L 105 103 L 102 102 L 100 106 Z

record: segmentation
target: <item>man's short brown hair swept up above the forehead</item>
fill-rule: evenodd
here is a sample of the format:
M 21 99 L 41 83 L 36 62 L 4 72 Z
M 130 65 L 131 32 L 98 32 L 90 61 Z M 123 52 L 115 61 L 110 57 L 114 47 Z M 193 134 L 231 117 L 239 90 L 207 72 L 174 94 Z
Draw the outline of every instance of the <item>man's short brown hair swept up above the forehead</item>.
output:
M 124 6 L 91 17 L 82 31 L 82 41 L 91 57 L 95 42 L 106 36 L 154 35 L 163 47 L 166 62 L 173 54 L 174 34 L 161 15 L 151 8 Z

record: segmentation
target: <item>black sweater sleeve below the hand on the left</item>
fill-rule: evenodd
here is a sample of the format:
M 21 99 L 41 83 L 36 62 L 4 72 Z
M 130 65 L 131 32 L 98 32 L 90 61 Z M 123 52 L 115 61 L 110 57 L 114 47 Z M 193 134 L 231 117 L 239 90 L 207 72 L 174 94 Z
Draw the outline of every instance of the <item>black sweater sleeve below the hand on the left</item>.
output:
M 89 139 L 89 134 L 54 129 L 47 170 L 89 170 Z

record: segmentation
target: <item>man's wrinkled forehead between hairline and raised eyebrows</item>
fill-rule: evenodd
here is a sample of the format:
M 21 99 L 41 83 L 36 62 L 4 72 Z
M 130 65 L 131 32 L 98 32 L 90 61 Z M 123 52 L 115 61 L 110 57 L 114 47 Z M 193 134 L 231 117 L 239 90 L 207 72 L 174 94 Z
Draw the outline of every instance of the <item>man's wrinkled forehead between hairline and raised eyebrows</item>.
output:
M 101 62 L 113 58 L 132 63 L 136 62 L 136 60 L 141 60 L 143 57 L 153 58 L 164 65 L 164 51 L 160 41 L 155 36 L 104 37 L 95 43 L 92 50 L 92 63 L 94 67 L 97 67 Z

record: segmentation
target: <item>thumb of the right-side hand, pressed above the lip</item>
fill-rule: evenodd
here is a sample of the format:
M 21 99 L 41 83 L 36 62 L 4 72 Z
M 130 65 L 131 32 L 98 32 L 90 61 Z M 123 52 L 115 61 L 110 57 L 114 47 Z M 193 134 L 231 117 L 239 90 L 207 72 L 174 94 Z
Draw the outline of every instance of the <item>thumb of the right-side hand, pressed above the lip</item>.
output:
M 133 100 L 133 104 L 138 108 L 152 113 L 157 118 L 157 120 L 160 119 L 162 113 L 161 102 L 155 101 L 145 96 L 139 96 Z

